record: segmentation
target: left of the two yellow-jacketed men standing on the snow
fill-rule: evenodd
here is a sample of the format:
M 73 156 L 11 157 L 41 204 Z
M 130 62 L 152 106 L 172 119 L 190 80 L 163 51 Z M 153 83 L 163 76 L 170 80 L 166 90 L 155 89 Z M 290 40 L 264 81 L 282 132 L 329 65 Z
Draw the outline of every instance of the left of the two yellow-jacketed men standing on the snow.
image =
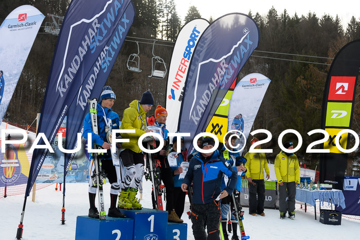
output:
M 251 140 L 251 145 L 259 141 L 257 138 Z M 260 149 L 260 144 L 255 149 Z M 265 181 L 264 169 L 266 172 L 266 180 L 270 177 L 269 167 L 265 153 L 246 153 L 245 168 L 247 169 L 246 177 L 249 181 L 249 214 L 256 216 L 257 214 L 265 216 Z

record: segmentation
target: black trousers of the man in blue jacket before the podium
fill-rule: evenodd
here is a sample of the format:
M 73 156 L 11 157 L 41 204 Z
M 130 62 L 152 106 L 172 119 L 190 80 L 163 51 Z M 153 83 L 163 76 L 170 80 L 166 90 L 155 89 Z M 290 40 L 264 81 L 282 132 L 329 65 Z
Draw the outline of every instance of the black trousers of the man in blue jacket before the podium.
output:
M 195 240 L 220 240 L 220 221 L 219 201 L 212 201 L 209 204 L 192 204 L 191 222 Z

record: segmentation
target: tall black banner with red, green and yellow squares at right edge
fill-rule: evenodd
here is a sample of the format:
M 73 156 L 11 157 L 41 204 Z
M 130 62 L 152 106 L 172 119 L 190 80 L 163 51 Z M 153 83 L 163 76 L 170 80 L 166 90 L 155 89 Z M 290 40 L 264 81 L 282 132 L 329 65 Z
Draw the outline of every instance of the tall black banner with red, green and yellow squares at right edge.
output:
M 335 146 L 335 137 L 342 130 L 350 130 L 355 104 L 356 82 L 360 67 L 360 40 L 348 43 L 336 54 L 324 89 L 321 129 L 330 135 L 323 143 L 329 153 L 320 154 L 320 182 L 343 187 L 347 154 Z M 342 134 L 339 140 L 343 149 L 349 149 L 350 138 Z

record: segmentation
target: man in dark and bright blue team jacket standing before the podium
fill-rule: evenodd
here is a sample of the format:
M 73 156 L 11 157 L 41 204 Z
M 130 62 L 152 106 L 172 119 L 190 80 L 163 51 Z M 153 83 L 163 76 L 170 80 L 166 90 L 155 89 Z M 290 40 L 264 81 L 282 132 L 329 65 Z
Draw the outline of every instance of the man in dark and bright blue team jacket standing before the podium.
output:
M 211 137 L 204 137 L 202 149 L 213 149 L 215 141 Z M 223 174 L 229 180 L 226 188 L 221 191 Z M 218 150 L 212 153 L 195 153 L 191 158 L 188 172 L 181 186 L 187 192 L 188 186 L 193 183 L 193 197 L 191 208 L 192 232 L 195 240 L 220 239 L 221 210 L 219 199 L 230 195 L 236 187 L 238 175 L 231 166 L 221 157 Z M 205 232 L 207 228 L 207 237 Z

